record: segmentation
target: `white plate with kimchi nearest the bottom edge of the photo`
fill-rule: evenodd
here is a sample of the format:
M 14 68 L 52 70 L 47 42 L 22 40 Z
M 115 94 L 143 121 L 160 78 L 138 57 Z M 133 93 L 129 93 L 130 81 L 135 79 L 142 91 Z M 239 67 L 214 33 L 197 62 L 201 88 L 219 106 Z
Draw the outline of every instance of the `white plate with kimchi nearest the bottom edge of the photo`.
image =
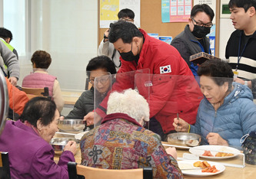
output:
M 194 164 L 194 160 L 189 160 L 189 161 L 178 161 L 178 167 L 181 169 L 185 169 L 185 168 L 195 168 L 193 166 Z M 225 167 L 223 164 L 218 164 L 216 162 L 212 162 L 212 161 L 207 161 L 208 164 L 211 164 L 211 166 L 215 165 L 216 169 L 218 170 L 218 172 L 216 173 L 210 173 L 210 172 L 201 172 L 201 169 L 195 168 L 196 170 L 183 170 L 182 174 L 191 176 L 191 177 L 205 177 L 205 176 L 211 176 L 214 174 L 221 174 L 224 170 Z

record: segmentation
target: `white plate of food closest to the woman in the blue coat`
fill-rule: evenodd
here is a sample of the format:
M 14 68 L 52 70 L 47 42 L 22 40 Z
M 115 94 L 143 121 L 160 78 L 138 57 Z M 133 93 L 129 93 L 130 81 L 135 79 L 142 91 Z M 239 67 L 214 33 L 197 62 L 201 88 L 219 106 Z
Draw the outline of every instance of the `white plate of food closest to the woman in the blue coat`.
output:
M 238 149 L 236 148 L 231 148 L 228 146 L 222 146 L 222 145 L 200 145 L 194 148 L 190 148 L 189 151 L 191 154 L 194 155 L 199 155 L 201 158 L 208 158 L 208 159 L 227 159 L 227 158 L 234 158 L 237 156 L 239 153 L 241 153 Z M 209 156 L 204 156 L 204 151 L 211 151 L 211 155 L 216 155 L 218 151 L 226 151 L 229 153 L 233 153 L 234 155 L 232 156 L 226 156 L 226 157 L 209 157 Z

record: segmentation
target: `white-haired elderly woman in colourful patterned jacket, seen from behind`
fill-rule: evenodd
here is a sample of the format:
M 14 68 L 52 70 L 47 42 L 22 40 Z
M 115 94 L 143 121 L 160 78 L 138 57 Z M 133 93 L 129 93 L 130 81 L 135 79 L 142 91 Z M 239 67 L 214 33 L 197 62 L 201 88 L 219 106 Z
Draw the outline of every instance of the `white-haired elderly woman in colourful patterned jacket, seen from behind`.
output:
M 148 120 L 148 103 L 135 90 L 111 93 L 107 116 L 81 138 L 81 164 L 107 169 L 150 166 L 154 178 L 182 177 L 177 161 L 161 145 L 160 136 L 143 128 Z M 176 151 L 170 153 L 175 155 Z

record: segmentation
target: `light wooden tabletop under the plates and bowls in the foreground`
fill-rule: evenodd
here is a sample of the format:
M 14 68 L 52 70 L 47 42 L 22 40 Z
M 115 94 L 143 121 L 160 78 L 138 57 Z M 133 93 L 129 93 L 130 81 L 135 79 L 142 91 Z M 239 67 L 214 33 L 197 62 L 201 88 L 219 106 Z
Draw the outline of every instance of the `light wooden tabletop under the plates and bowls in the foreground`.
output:
M 190 153 L 188 150 L 184 149 L 177 149 L 178 158 L 182 158 L 184 153 Z M 58 158 L 60 155 L 55 155 L 55 162 L 58 162 Z M 200 160 L 203 160 L 200 158 Z M 81 163 L 81 151 L 78 150 L 77 154 L 75 155 L 75 161 L 80 164 Z M 208 160 L 209 161 L 209 160 Z M 219 161 L 219 160 L 218 160 Z M 217 160 L 214 160 L 214 162 L 218 162 Z M 237 156 L 235 158 L 229 158 L 225 160 L 221 160 L 219 162 L 223 163 L 234 163 L 234 164 L 242 164 L 241 156 Z M 224 179 L 253 179 L 256 178 L 256 165 L 251 164 L 245 164 L 245 168 L 234 168 L 234 167 L 228 167 L 225 166 L 225 171 L 221 174 L 216 174 L 208 177 L 201 177 L 201 178 L 224 178 Z M 188 177 L 184 176 L 184 178 L 197 178 L 197 177 Z

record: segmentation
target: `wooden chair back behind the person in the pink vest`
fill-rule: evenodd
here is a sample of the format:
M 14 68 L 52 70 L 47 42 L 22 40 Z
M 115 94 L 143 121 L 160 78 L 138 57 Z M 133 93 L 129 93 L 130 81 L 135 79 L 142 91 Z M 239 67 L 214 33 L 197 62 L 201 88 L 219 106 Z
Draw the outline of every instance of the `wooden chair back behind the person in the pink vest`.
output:
M 28 99 L 32 99 L 36 96 L 49 97 L 48 87 L 45 87 L 45 88 L 25 88 L 25 87 L 22 87 L 22 91 L 24 91 L 27 94 Z

